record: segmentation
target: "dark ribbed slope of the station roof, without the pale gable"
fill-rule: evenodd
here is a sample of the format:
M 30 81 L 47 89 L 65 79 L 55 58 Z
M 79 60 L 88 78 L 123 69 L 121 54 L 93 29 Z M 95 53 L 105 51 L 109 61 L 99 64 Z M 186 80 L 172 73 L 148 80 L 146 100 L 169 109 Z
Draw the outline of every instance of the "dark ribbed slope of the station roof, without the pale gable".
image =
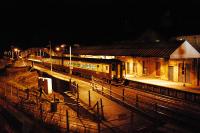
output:
M 123 41 L 101 46 L 80 47 L 79 49 L 73 49 L 72 54 L 169 58 L 181 44 L 182 41 L 169 43 Z

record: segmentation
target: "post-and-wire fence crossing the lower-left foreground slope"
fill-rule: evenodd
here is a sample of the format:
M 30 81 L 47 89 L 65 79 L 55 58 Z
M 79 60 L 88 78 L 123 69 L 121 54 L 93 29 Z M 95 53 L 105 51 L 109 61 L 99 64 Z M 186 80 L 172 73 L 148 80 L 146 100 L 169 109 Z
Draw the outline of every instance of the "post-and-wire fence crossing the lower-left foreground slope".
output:
M 107 130 L 103 125 L 98 129 L 96 121 L 77 117 L 76 112 L 64 104 L 57 104 L 57 109 L 54 109 L 55 104 L 51 102 L 53 97 L 39 97 L 37 90 L 22 90 L 5 82 L 0 82 L 0 86 L 0 96 L 1 100 L 5 100 L 4 103 L 17 107 L 54 130 L 80 133 Z

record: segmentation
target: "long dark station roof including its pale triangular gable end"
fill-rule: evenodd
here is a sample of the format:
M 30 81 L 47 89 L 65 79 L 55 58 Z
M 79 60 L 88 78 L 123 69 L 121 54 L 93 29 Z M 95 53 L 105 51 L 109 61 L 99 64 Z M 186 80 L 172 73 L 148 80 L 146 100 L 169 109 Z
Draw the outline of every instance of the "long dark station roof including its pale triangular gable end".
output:
M 106 45 L 73 49 L 76 55 L 110 55 L 134 57 L 160 57 L 171 59 L 200 58 L 200 53 L 188 41 L 134 42 L 121 41 Z

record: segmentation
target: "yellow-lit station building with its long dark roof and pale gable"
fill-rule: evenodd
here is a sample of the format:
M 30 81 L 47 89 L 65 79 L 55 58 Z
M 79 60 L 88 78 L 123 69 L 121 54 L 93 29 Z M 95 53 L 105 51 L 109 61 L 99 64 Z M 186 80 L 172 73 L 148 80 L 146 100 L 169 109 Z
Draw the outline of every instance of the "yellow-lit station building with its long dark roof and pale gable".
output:
M 150 78 L 200 86 L 200 36 L 151 42 L 121 41 L 82 47 L 74 54 L 87 58 L 119 59 L 117 78 Z

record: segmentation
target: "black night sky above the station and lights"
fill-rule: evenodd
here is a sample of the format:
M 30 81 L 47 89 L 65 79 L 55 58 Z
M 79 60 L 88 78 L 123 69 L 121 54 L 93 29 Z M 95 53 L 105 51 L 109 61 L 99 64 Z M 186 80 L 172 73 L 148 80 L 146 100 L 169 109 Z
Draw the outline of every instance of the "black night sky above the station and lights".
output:
M 48 40 L 95 44 L 134 40 L 146 30 L 165 37 L 200 34 L 200 2 L 124 0 L 6 0 L 0 4 L 0 43 L 22 48 Z

